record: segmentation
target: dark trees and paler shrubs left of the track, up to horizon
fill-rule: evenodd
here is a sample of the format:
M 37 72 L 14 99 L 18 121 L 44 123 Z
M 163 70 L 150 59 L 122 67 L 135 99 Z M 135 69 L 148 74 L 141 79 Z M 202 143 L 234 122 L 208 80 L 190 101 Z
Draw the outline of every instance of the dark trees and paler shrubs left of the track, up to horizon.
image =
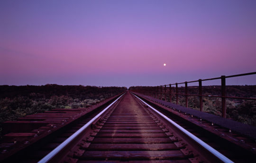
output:
M 127 90 L 97 86 L 0 86 L 0 122 L 56 108 L 85 108 Z

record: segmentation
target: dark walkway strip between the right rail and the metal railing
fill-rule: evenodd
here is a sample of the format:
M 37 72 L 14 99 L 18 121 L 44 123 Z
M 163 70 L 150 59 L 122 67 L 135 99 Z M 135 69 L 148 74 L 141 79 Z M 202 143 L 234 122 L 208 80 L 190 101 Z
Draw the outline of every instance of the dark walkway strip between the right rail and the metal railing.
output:
M 230 129 L 223 128 L 207 120 L 193 117 L 160 103 L 140 97 L 170 120 L 186 129 L 206 144 L 227 156 L 235 163 L 254 163 L 256 160 L 256 140 L 245 137 Z

